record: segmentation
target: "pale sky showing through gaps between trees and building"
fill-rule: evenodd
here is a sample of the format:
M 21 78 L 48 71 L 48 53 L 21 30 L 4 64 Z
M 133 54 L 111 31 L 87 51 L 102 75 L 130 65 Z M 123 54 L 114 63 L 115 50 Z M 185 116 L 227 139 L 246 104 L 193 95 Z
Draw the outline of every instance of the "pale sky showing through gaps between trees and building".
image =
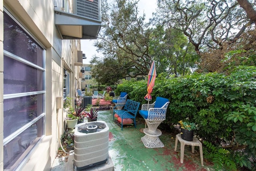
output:
M 138 10 L 140 12 L 140 16 L 142 16 L 143 12 L 146 14 L 146 18 L 151 18 L 152 12 L 156 10 L 156 2 L 157 0 L 140 0 L 138 2 Z M 83 64 L 90 64 L 90 60 L 92 56 L 101 56 L 96 52 L 96 47 L 93 46 L 96 40 L 81 40 L 81 50 L 83 54 L 85 54 L 86 59 L 83 60 Z

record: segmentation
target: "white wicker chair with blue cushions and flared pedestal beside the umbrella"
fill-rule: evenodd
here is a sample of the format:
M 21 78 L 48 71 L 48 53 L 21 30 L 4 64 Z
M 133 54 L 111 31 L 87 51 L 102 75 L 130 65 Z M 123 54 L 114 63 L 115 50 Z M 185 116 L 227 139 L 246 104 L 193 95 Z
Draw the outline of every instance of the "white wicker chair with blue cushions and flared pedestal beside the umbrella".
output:
M 156 97 L 156 101 L 152 104 L 143 104 L 139 111 L 140 115 L 145 119 L 147 128 L 144 129 L 146 134 L 141 138 L 144 145 L 148 148 L 164 147 L 159 136 L 162 132 L 157 127 L 166 118 L 166 111 L 169 105 L 169 100 L 163 97 Z

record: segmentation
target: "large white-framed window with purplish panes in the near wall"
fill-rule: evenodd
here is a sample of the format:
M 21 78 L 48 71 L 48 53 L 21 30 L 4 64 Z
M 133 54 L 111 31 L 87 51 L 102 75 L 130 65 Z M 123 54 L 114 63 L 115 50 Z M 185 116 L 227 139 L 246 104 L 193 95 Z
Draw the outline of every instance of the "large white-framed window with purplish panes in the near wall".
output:
M 4 170 L 18 169 L 45 134 L 45 50 L 4 12 Z

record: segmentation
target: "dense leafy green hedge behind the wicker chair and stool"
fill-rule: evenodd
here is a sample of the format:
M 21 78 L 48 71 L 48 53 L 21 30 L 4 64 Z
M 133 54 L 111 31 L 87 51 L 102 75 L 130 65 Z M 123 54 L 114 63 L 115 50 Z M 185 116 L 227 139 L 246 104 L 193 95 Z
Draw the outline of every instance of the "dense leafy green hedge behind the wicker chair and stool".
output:
M 116 94 L 126 91 L 129 99 L 147 103 L 144 100 L 146 89 L 145 81 L 124 81 L 115 91 Z M 208 159 L 214 159 L 218 155 L 210 155 L 213 154 L 209 153 L 213 146 L 218 149 L 221 144 L 233 143 L 238 148 L 241 145 L 246 148 L 240 153 L 231 150 L 234 147 L 227 148 L 231 152 L 223 153 L 229 154 L 230 158 L 224 157 L 225 161 L 216 163 L 235 169 L 230 162 L 232 160 L 240 167 L 255 168 L 256 67 L 240 66 L 228 75 L 194 73 L 179 78 L 158 76 L 152 92 L 152 101 L 157 96 L 170 100 L 162 126 L 168 125 L 172 130 L 178 121 L 189 119 L 198 124 L 198 130 L 195 132 L 205 141 Z

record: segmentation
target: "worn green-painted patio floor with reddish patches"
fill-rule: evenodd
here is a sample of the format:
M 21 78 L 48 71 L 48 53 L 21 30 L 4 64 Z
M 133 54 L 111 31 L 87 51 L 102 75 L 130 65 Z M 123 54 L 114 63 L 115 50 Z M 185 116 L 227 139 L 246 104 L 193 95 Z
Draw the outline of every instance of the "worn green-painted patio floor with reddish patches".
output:
M 99 111 L 98 120 L 105 121 L 109 127 L 109 155 L 112 159 L 115 171 L 209 171 L 214 170 L 211 163 L 204 160 L 204 166 L 200 163 L 199 148 L 195 147 L 195 153 L 191 152 L 191 146 L 185 146 L 184 163 L 180 163 L 180 143 L 177 151 L 174 151 L 175 135 L 170 132 L 162 132 L 160 140 L 163 148 L 146 148 L 141 141 L 144 133 L 144 120 L 137 116 L 137 127 L 125 126 L 123 131 L 112 121 L 113 115 L 109 111 Z M 56 159 L 51 171 L 64 171 L 67 159 Z M 60 164 L 58 164 L 58 162 Z M 68 164 L 70 165 L 70 163 Z M 71 169 L 72 170 L 72 169 Z M 67 169 L 66 171 L 71 171 Z

